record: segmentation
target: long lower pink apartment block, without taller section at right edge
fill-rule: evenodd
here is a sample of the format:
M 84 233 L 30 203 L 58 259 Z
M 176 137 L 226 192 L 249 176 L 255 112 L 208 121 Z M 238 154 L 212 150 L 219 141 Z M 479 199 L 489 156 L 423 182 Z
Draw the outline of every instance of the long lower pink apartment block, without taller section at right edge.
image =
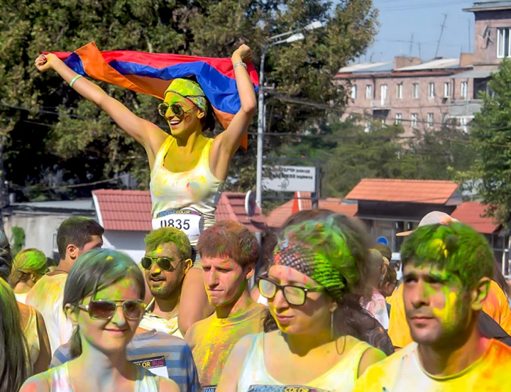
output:
M 438 129 L 449 119 L 451 101 L 471 97 L 472 85 L 454 78 L 468 70 L 469 54 L 427 62 L 396 57 L 393 62 L 348 65 L 336 75 L 351 94 L 342 119 L 365 122 L 367 131 L 370 119 L 402 124 L 410 136 L 414 129 Z

